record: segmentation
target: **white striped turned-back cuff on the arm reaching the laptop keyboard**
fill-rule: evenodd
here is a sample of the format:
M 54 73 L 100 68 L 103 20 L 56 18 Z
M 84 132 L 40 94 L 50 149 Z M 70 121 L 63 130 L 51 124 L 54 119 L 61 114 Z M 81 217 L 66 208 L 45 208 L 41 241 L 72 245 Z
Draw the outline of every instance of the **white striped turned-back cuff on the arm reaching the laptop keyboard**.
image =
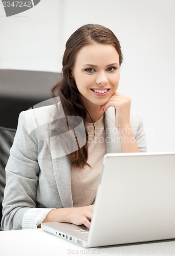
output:
M 49 212 L 53 209 L 55 208 L 31 208 L 27 210 L 23 216 L 22 228 L 37 228 L 37 226 L 46 219 Z

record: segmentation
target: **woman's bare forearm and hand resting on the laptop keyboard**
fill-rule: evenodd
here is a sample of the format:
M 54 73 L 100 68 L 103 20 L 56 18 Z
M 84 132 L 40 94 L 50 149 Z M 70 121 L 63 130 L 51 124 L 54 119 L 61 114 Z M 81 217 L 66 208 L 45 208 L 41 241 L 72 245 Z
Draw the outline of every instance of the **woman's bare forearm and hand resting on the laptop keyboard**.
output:
M 67 222 L 75 225 L 84 224 L 86 227 L 90 228 L 93 211 L 94 205 L 53 209 L 43 222 Z

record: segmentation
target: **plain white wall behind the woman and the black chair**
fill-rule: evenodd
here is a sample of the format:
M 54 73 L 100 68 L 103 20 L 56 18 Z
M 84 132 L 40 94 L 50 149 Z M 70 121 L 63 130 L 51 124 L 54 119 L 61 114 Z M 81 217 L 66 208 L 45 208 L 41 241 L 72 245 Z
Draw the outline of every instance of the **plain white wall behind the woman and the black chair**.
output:
M 41 0 L 20 14 L 29 17 L 0 17 L 0 68 L 60 71 L 68 37 L 83 24 L 104 25 L 120 40 L 118 91 L 142 114 L 148 151 L 175 151 L 174 9 L 174 0 Z

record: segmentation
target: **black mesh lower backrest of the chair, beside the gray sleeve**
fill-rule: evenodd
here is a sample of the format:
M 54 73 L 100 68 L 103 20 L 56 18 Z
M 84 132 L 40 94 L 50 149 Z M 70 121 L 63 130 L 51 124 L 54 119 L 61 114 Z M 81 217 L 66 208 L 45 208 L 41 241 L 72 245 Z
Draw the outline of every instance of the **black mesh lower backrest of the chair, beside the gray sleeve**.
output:
M 5 166 L 9 158 L 9 152 L 13 143 L 15 133 L 16 129 L 10 129 L 0 126 L 0 220 L 2 219 L 2 202 L 4 187 L 6 184 Z M 1 223 L 0 230 L 2 230 Z

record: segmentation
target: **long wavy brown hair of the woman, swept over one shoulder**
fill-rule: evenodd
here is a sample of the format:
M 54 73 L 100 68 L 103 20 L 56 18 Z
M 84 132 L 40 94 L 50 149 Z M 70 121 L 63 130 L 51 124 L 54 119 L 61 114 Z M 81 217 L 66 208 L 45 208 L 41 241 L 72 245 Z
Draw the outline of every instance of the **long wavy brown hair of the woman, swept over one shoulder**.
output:
M 88 24 L 77 29 L 68 39 L 62 59 L 62 79 L 51 89 L 52 97 L 60 97 L 62 108 L 67 116 L 79 116 L 85 123 L 88 111 L 84 108 L 83 102 L 79 97 L 74 78 L 71 75 L 78 51 L 86 45 L 93 44 L 112 45 L 119 54 L 121 65 L 123 56 L 120 42 L 115 34 L 108 28 L 101 25 Z M 93 120 L 92 120 L 93 122 Z M 57 127 L 55 126 L 55 130 Z M 67 155 L 71 165 L 83 168 L 88 165 L 88 132 L 85 130 L 86 143 L 84 146 L 73 153 Z M 91 166 L 90 166 L 91 167 Z

